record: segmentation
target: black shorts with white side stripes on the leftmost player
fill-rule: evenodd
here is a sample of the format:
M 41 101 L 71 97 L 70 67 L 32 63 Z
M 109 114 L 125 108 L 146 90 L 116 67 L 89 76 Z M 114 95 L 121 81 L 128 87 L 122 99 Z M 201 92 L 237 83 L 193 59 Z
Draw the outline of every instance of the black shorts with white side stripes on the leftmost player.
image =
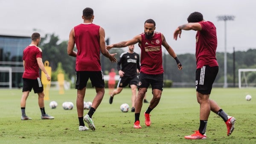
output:
M 37 79 L 28 79 L 28 78 L 23 78 L 23 88 L 22 92 L 34 90 L 35 93 L 40 93 L 44 91 L 43 84 L 41 82 L 40 78 Z

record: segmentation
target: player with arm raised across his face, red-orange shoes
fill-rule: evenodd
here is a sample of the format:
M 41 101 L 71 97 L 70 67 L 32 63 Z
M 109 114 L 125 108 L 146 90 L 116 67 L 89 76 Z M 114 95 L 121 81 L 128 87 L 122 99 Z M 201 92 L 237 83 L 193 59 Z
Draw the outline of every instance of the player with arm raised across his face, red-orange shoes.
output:
M 206 127 L 210 111 L 218 114 L 227 125 L 227 136 L 234 130 L 236 119 L 227 115 L 218 104 L 209 99 L 212 84 L 218 73 L 216 60 L 217 36 L 216 28 L 210 21 L 205 21 L 199 12 L 193 12 L 187 18 L 188 23 L 179 26 L 174 32 L 174 39 L 180 37 L 182 30 L 195 30 L 196 34 L 196 95 L 200 104 L 200 126 L 194 134 L 185 136 L 186 139 L 205 139 Z

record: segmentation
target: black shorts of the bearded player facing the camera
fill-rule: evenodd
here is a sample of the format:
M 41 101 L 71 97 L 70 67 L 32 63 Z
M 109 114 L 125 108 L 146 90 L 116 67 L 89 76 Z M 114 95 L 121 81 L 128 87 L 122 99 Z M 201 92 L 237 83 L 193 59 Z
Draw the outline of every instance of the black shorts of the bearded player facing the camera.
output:
M 138 89 L 148 88 L 149 84 L 151 84 L 152 90 L 159 89 L 163 91 L 163 74 L 149 75 L 140 72 Z

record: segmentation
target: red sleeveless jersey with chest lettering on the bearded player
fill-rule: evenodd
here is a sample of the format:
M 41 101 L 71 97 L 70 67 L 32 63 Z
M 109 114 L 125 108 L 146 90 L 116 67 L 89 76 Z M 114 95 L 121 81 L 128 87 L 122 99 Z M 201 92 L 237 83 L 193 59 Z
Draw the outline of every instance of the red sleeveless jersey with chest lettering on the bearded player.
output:
M 154 35 L 147 39 L 145 33 L 141 35 L 141 49 L 140 72 L 145 74 L 162 74 L 163 60 L 162 60 L 162 36 L 160 32 L 154 32 Z

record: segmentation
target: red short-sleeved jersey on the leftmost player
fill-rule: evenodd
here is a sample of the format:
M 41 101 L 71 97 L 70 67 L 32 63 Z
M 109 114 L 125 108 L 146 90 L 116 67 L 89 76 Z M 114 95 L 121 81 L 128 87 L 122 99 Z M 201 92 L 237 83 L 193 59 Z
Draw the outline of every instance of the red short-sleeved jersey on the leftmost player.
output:
M 22 78 L 37 79 L 39 75 L 39 66 L 36 58 L 42 58 L 42 50 L 35 46 L 29 45 L 23 50 L 23 60 L 25 60 L 25 70 Z

